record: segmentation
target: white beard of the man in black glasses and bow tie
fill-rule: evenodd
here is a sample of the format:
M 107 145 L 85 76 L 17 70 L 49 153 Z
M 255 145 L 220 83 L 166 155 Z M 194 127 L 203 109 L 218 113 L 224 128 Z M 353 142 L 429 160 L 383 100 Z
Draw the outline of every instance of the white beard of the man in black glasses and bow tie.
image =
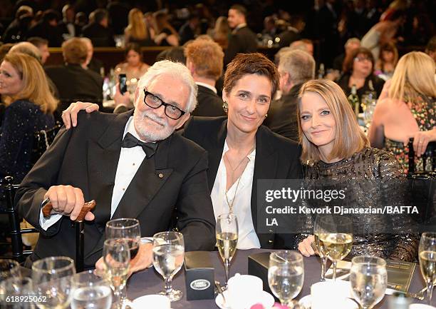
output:
M 175 128 L 170 126 L 166 117 L 156 116 L 152 111 L 141 112 L 135 108 L 133 116 L 137 134 L 144 141 L 162 141 L 175 131 Z

